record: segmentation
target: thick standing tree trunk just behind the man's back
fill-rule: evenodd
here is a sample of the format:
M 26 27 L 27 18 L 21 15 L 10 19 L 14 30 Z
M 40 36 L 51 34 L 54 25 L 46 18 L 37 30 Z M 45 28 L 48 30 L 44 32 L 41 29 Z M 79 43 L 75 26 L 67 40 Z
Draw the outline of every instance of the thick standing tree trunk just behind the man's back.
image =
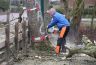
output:
M 75 6 L 71 11 L 71 40 L 74 42 L 79 41 L 79 26 L 81 22 L 81 16 L 84 10 L 84 0 L 75 0 Z

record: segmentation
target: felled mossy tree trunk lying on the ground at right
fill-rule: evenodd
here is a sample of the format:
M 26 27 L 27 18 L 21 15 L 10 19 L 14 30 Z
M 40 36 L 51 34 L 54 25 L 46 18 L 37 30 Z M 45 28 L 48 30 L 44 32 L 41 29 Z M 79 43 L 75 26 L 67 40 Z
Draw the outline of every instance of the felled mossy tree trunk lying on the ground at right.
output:
M 96 45 L 94 45 L 86 36 L 82 37 L 82 43 L 84 43 L 84 48 L 69 49 L 69 54 L 66 58 L 72 57 L 74 54 L 84 53 L 93 58 L 96 58 Z

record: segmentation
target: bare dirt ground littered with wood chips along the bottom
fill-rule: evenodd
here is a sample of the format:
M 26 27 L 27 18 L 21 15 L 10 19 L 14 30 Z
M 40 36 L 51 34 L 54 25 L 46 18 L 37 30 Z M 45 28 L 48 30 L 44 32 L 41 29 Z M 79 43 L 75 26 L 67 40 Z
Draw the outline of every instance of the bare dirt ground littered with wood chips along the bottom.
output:
M 14 65 L 96 65 L 96 60 L 84 54 L 76 54 L 72 58 L 61 59 L 64 55 L 56 57 L 46 51 L 31 50 L 27 57 L 22 57 Z

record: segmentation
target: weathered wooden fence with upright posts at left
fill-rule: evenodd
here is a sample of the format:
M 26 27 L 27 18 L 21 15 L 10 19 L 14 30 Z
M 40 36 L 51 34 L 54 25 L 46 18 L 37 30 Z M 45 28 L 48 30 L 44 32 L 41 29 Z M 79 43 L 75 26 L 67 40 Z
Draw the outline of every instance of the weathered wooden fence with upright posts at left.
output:
M 30 22 L 15 23 L 15 32 L 10 33 L 10 25 L 5 26 L 5 40 L 0 44 L 0 65 L 10 65 L 18 61 L 22 55 L 27 55 L 27 49 L 31 45 Z

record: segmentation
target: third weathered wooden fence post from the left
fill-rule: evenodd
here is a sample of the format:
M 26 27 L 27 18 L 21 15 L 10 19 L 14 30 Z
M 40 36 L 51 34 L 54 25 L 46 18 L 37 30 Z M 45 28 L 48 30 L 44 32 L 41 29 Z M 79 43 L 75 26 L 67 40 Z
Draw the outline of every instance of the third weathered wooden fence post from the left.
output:
M 23 42 L 23 52 L 27 55 L 27 43 L 26 43 L 26 21 L 22 22 L 22 42 Z

